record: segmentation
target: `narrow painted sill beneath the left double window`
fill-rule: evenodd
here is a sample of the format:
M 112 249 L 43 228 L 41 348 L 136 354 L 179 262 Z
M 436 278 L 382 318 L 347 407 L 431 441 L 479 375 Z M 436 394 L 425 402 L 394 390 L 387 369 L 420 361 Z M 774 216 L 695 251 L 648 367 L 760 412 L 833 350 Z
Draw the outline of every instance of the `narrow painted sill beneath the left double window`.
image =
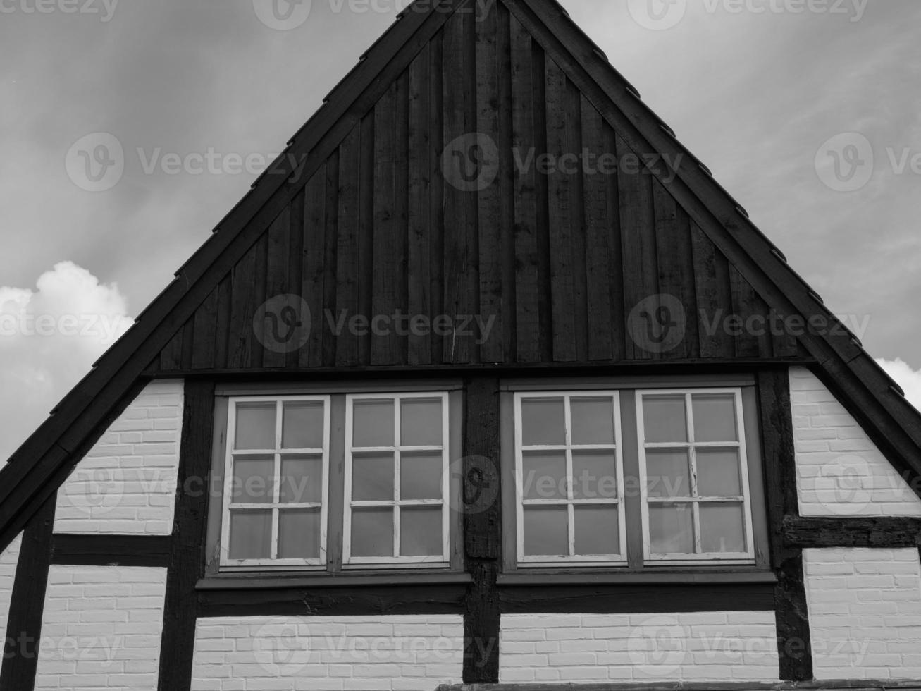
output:
M 272 590 L 281 588 L 343 588 L 387 585 L 451 585 L 471 580 L 462 571 L 381 570 L 374 573 L 300 572 L 267 574 L 265 571 L 237 571 L 205 576 L 195 583 L 196 591 Z

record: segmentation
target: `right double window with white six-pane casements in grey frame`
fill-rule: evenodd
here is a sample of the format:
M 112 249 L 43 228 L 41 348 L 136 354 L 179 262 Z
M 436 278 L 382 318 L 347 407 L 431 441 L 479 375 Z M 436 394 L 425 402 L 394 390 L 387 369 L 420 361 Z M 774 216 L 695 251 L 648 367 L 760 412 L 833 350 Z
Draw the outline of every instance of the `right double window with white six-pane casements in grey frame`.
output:
M 766 567 L 753 380 L 617 383 L 504 385 L 506 568 Z

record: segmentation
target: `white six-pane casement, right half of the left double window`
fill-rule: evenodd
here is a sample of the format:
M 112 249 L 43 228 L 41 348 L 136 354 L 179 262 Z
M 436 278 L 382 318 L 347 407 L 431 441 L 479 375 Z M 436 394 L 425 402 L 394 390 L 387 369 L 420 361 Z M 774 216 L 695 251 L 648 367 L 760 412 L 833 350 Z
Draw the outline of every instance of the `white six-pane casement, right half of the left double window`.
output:
M 349 394 L 343 563 L 449 561 L 447 393 Z

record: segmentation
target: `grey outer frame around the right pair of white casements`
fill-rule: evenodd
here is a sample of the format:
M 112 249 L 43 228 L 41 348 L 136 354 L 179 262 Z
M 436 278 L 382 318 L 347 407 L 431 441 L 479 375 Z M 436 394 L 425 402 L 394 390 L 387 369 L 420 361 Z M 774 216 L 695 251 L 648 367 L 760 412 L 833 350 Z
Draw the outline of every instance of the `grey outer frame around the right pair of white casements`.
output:
M 677 389 L 677 388 L 726 388 L 741 389 L 743 424 L 748 447 L 749 488 L 752 498 L 752 529 L 755 559 L 752 565 L 721 565 L 718 563 L 694 563 L 687 566 L 674 564 L 656 565 L 643 563 L 643 536 L 639 529 L 640 501 L 638 494 L 626 498 L 627 557 L 628 566 L 535 566 L 519 565 L 516 544 L 516 498 L 514 463 L 514 393 L 535 391 L 585 391 L 618 390 L 621 392 L 621 425 L 624 439 L 624 473 L 637 467 L 637 439 L 628 430 L 636 428 L 635 390 Z M 762 463 L 762 441 L 758 411 L 758 396 L 753 375 L 705 375 L 705 376 L 637 376 L 637 377 L 593 377 L 593 378 L 520 378 L 502 381 L 500 392 L 501 416 L 501 473 L 502 473 L 502 553 L 503 573 L 500 583 L 551 583 L 556 579 L 566 580 L 581 574 L 586 580 L 600 579 L 619 582 L 630 575 L 647 577 L 650 580 L 671 580 L 690 577 L 712 576 L 715 580 L 740 580 L 749 578 L 752 572 L 763 572 L 764 579 L 772 580 L 770 574 L 770 553 L 764 497 L 764 468 Z M 579 578 L 579 577 L 577 577 Z

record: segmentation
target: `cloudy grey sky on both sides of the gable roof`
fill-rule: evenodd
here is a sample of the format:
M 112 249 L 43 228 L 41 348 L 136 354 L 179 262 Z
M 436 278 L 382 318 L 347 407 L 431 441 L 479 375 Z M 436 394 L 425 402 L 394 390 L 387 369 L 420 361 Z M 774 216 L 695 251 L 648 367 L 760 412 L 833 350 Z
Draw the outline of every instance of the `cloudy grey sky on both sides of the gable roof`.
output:
M 27 324 L 0 322 L 0 457 L 404 5 L 277 1 L 0 0 L 0 315 Z M 921 3 L 565 6 L 921 405 Z M 105 191 L 75 153 L 97 133 Z

